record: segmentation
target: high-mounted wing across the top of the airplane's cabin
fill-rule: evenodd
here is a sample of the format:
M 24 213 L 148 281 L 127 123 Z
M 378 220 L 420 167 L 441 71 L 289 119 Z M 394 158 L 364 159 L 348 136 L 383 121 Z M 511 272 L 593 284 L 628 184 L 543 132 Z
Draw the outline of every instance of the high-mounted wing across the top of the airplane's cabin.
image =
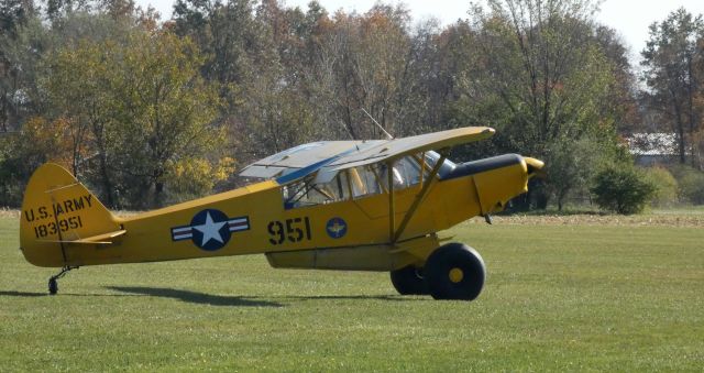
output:
M 276 178 L 279 184 L 287 184 L 319 172 L 318 182 L 324 182 L 341 169 L 480 141 L 494 132 L 487 127 L 466 127 L 393 140 L 315 142 L 260 160 L 240 175 Z

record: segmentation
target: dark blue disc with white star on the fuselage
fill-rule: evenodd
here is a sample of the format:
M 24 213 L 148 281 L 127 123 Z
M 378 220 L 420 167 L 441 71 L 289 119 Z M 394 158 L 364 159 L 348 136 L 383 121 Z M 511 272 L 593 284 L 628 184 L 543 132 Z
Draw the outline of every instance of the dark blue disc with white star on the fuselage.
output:
M 230 241 L 229 218 L 222 211 L 206 209 L 190 220 L 193 241 L 206 251 L 222 249 Z

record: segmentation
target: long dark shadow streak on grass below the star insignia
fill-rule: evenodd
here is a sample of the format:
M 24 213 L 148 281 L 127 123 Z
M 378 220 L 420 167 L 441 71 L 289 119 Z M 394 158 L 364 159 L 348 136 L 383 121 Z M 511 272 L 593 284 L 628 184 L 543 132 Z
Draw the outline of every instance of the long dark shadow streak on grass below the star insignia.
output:
M 179 290 L 167 287 L 140 287 L 140 286 L 108 286 L 111 290 L 131 293 L 143 296 L 162 297 L 178 299 L 186 303 L 211 305 L 211 306 L 232 306 L 232 307 L 283 307 L 282 304 L 266 300 L 252 300 L 242 297 L 231 297 L 222 295 L 210 295 L 198 292 Z

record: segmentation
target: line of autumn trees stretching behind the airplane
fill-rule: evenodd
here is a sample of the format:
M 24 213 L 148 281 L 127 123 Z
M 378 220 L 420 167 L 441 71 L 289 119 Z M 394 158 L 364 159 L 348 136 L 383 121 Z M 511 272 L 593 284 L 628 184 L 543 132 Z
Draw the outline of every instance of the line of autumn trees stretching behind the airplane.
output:
M 526 204 L 560 208 L 624 138 L 671 132 L 702 169 L 704 26 L 680 9 L 650 29 L 641 72 L 592 0 L 490 0 L 442 26 L 403 6 L 330 13 L 276 0 L 178 0 L 168 20 L 132 0 L 0 4 L 0 206 L 57 162 L 116 208 L 238 185 L 237 169 L 318 140 L 490 125 L 472 158 L 542 158 Z

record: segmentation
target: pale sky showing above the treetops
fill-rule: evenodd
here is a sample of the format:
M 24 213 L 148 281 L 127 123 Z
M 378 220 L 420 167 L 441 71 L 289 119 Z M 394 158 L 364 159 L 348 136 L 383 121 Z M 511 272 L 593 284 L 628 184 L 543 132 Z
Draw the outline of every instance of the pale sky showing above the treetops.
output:
M 138 4 L 151 4 L 162 13 L 162 19 L 170 18 L 175 0 L 136 0 Z M 285 0 L 288 7 L 300 7 L 304 11 L 310 0 Z M 318 0 L 330 13 L 338 9 L 346 12 L 366 12 L 376 0 Z M 437 18 L 441 24 L 465 19 L 470 0 L 385 0 L 384 3 L 404 2 L 416 21 Z M 606 0 L 602 3 L 597 20 L 615 29 L 630 47 L 631 58 L 639 59 L 640 51 L 648 40 L 648 26 L 661 22 L 673 10 L 684 7 L 690 13 L 704 14 L 704 0 Z

